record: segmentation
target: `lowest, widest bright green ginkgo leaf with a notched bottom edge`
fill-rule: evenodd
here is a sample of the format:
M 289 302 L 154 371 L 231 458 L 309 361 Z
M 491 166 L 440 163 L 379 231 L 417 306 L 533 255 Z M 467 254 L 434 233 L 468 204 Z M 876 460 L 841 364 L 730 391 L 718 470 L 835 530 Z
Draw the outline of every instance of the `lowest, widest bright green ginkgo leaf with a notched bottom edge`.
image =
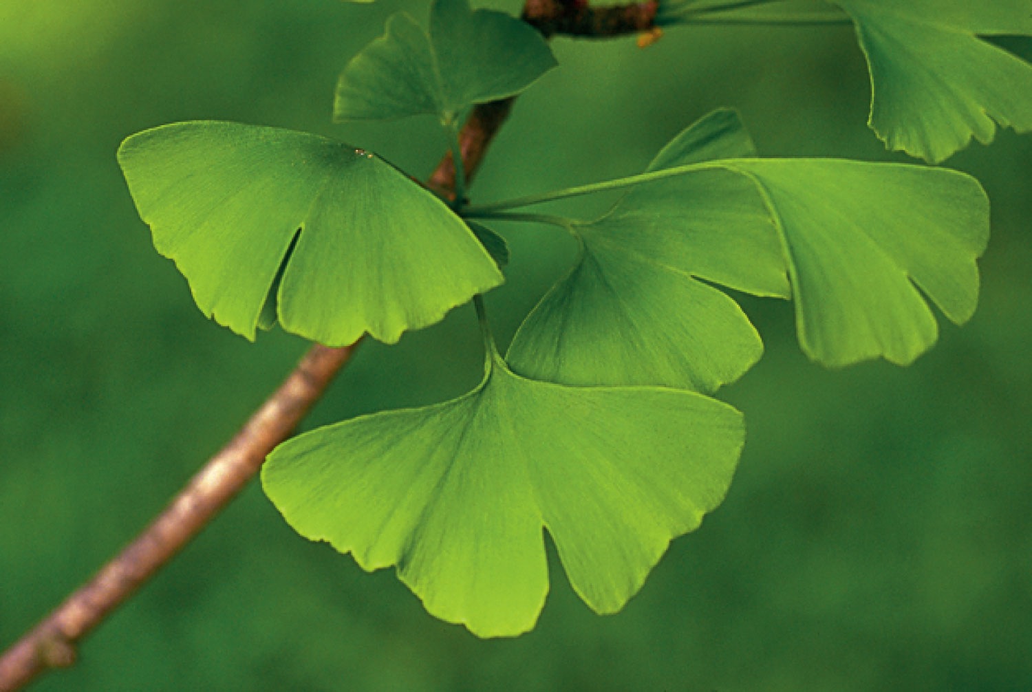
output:
M 265 492 L 298 533 L 366 570 L 396 565 L 430 614 L 479 636 L 534 627 L 543 528 L 576 592 L 616 612 L 723 498 L 741 415 L 691 392 L 524 380 L 491 351 L 458 399 L 280 446 Z

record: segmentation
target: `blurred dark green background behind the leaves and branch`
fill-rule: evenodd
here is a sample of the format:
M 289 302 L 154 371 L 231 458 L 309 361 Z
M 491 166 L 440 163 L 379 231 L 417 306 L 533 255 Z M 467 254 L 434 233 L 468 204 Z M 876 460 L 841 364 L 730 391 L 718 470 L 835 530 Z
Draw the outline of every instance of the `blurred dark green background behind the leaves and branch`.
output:
M 0 646 L 132 537 L 305 348 L 200 315 L 134 212 L 119 142 L 237 120 L 425 175 L 432 123 L 329 122 L 337 72 L 399 4 L 0 1 Z M 519 100 L 477 201 L 636 172 L 721 105 L 765 155 L 903 160 L 865 126 L 847 27 L 554 48 L 561 68 Z M 735 484 L 621 614 L 592 615 L 552 560 L 537 630 L 478 640 L 391 572 L 296 536 L 253 485 L 34 689 L 1032 689 L 1032 136 L 948 165 L 994 202 L 973 321 L 944 324 L 912 367 L 827 371 L 799 353 L 789 304 L 743 298 L 767 355 L 723 392 L 749 424 Z M 498 228 L 514 260 L 489 308 L 507 340 L 573 245 Z M 365 344 L 305 425 L 459 394 L 480 359 L 459 308 Z

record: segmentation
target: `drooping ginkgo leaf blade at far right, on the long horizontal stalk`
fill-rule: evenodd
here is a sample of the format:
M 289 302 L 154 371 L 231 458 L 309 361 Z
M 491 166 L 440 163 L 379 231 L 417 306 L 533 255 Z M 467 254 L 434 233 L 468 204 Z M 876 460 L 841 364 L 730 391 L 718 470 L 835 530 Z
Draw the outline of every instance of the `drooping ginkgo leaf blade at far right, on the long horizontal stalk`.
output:
M 925 296 L 957 324 L 974 312 L 989 200 L 969 175 L 841 160 L 728 165 L 767 197 L 788 258 L 800 344 L 814 360 L 909 364 L 938 334 Z

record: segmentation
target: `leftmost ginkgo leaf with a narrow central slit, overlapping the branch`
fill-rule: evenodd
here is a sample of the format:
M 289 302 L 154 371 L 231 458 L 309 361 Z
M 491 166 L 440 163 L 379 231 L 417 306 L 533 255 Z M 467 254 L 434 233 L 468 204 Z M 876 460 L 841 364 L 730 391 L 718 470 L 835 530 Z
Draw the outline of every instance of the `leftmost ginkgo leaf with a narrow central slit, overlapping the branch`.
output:
M 504 281 L 447 205 L 337 141 L 179 123 L 126 139 L 119 163 L 198 307 L 250 339 L 276 316 L 328 345 L 394 342 Z

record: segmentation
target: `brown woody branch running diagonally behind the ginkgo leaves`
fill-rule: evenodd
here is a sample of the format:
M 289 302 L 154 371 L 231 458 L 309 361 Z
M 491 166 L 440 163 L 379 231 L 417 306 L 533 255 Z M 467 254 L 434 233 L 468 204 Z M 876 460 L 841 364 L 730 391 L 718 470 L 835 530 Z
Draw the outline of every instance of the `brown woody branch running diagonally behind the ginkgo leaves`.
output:
M 523 19 L 545 36 L 610 37 L 647 30 L 656 3 L 587 7 L 583 0 L 527 0 Z M 474 108 L 459 135 L 470 179 L 512 110 L 514 98 Z M 429 187 L 453 193 L 455 167 L 446 156 Z M 0 657 L 0 692 L 14 692 L 36 675 L 75 662 L 79 641 L 172 559 L 235 497 L 287 438 L 344 367 L 358 342 L 315 345 L 238 433 L 197 472 L 128 547 Z

